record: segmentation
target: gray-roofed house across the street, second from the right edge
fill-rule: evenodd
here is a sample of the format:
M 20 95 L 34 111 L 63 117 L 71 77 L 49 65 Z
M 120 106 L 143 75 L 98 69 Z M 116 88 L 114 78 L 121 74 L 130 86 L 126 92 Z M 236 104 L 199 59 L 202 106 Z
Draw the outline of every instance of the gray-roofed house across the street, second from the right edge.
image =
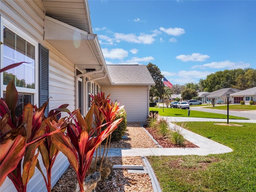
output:
M 215 98 L 216 104 L 226 104 L 226 102 L 227 102 L 226 95 L 236 93 L 239 91 L 241 91 L 241 90 L 235 89 L 235 88 L 224 88 L 224 89 L 216 90 L 216 91 L 208 94 L 208 96 L 207 96 L 207 99 L 209 100 L 208 103 L 210 103 L 210 98 Z M 230 101 L 230 103 L 234 103 L 234 100 L 232 100 L 232 98 L 229 98 L 229 101 Z

